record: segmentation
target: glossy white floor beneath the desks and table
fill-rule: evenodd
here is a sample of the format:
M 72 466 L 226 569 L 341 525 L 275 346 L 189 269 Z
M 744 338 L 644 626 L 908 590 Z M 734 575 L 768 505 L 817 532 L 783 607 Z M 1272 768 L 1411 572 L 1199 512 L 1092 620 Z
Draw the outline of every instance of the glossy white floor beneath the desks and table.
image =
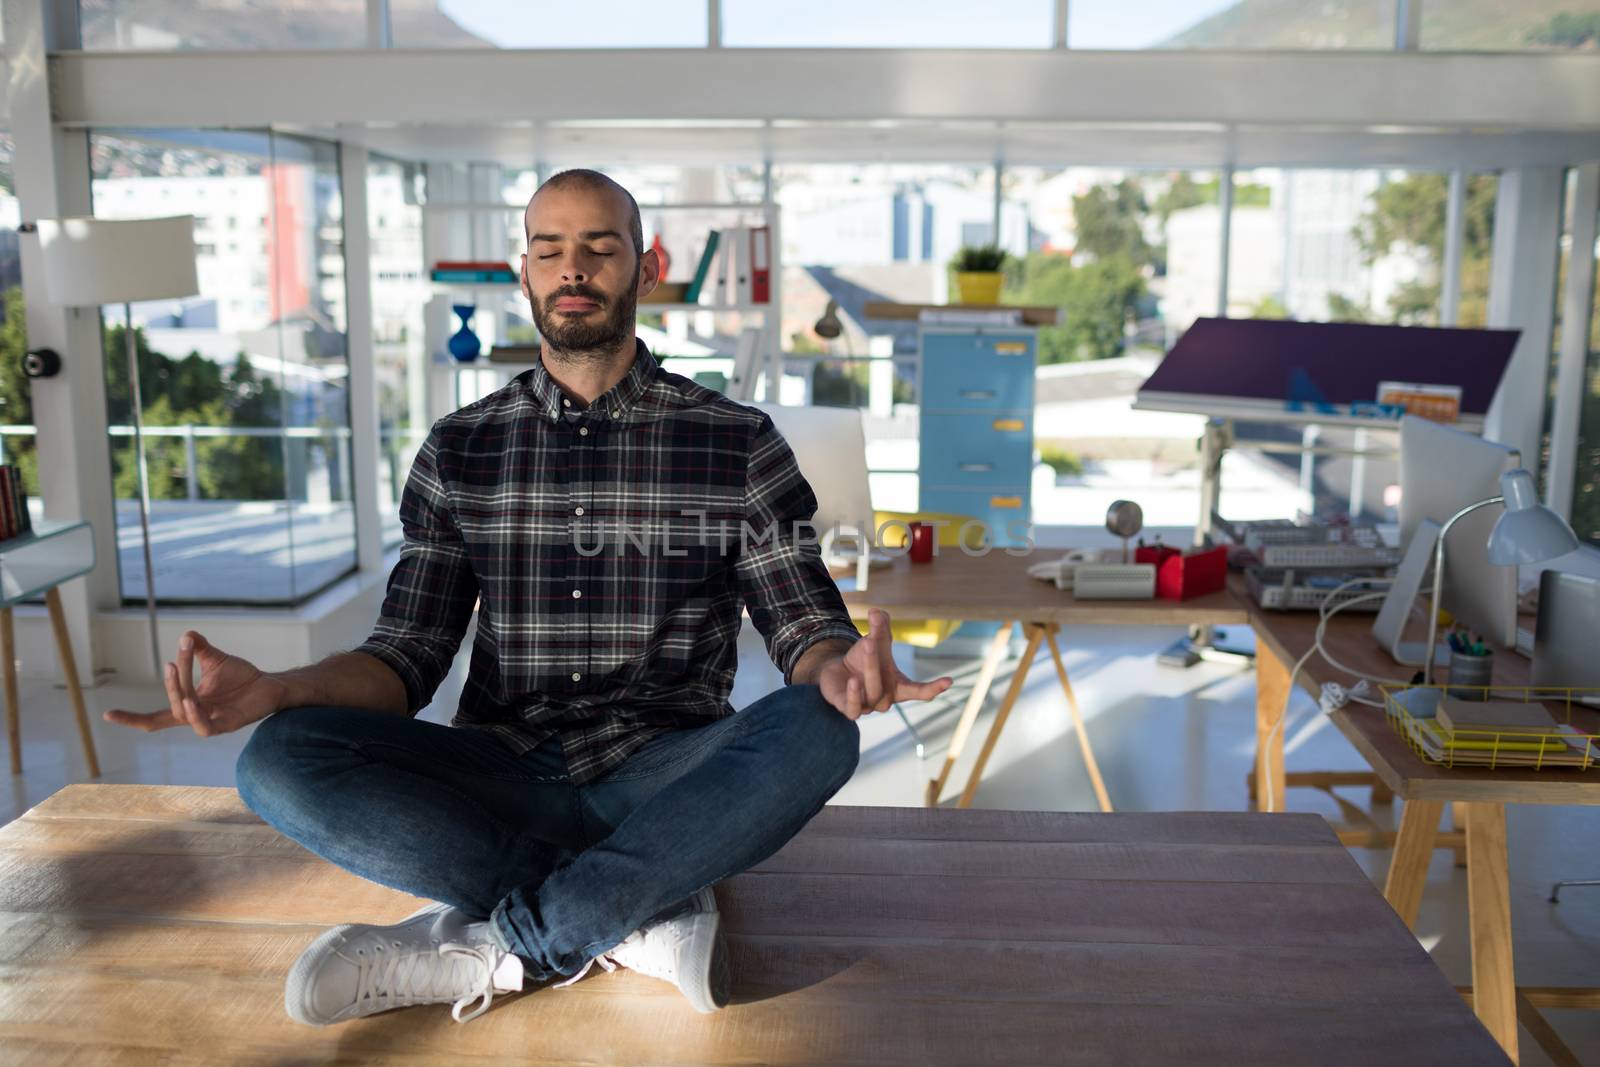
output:
M 1067 670 L 1088 717 L 1094 752 L 1112 801 L 1125 811 L 1245 808 L 1245 774 L 1254 742 L 1254 678 L 1248 669 L 1203 662 L 1190 670 L 1155 664 L 1155 653 L 1178 630 L 1069 627 L 1064 632 Z M 976 670 L 971 661 L 914 659 L 901 649 L 912 677 L 954 673 L 955 686 L 934 704 L 907 705 L 928 742 L 918 763 L 893 713 L 862 721 L 862 760 L 837 803 L 918 805 L 923 784 L 944 757 L 944 745 Z M 781 683 L 760 637 L 741 638 L 741 669 L 734 707 Z M 446 721 L 466 670 L 466 646 L 438 699 L 424 715 Z M 990 709 L 1005 688 L 1010 667 L 997 680 Z M 66 691 L 48 678 L 22 680 L 24 773 L 0 795 L 0 821 L 10 821 L 69 782 L 86 781 Z M 88 693 L 98 717 L 107 707 L 155 707 L 154 688 L 102 685 Z M 957 784 L 979 747 L 989 717 L 968 745 Z M 94 721 L 101 781 L 232 785 L 234 758 L 243 734 L 200 739 L 166 731 L 142 734 Z M 1360 757 L 1338 731 L 1317 720 L 1309 697 L 1298 697 L 1288 729 L 1291 768 L 1360 768 Z M 1347 790 L 1363 801 L 1362 790 Z M 1291 808 L 1331 817 L 1338 806 L 1323 793 L 1294 790 Z M 1054 672 L 1048 661 L 1029 673 L 1022 701 L 995 750 L 978 806 L 1053 811 L 1093 811 L 1094 797 L 1083 774 L 1077 741 L 1070 736 Z M 1392 813 L 1386 813 L 1387 817 Z M 1560 905 L 1547 902 L 1557 878 L 1600 878 L 1600 809 L 1523 806 L 1509 811 L 1512 861 L 1512 917 L 1517 979 L 1526 985 L 1600 985 L 1600 888 L 1573 888 Z M 1387 853 L 1354 851 L 1355 861 L 1381 881 Z M 1464 872 L 1450 853 L 1437 853 L 1422 901 L 1421 939 L 1451 981 L 1470 981 L 1467 961 L 1467 897 Z M 1405 1011 L 1405 1005 L 1395 1005 Z M 1550 1011 L 1549 1019 L 1584 1062 L 1600 1064 L 1600 1013 Z M 1549 1059 L 1523 1032 L 1523 1064 Z

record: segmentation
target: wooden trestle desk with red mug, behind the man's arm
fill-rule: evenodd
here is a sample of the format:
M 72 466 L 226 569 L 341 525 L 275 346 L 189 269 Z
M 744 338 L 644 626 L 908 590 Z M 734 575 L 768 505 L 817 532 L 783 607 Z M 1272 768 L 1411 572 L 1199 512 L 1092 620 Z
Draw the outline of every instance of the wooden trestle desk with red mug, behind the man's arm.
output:
M 994 621 L 1002 624 L 989 643 L 978 680 L 966 697 L 960 720 L 955 723 L 955 733 L 950 736 L 950 747 L 939 776 L 928 782 L 925 797 L 928 806 L 939 803 L 950 771 L 966 747 L 966 739 L 978 721 L 978 712 L 982 710 L 989 686 L 994 683 L 1006 646 L 1011 643 L 1013 622 L 1022 625 L 1027 646 L 1022 649 L 1022 659 L 1016 673 L 1011 675 L 1011 685 L 1006 688 L 1000 709 L 995 712 L 995 721 L 989 728 L 984 747 L 978 752 L 978 761 L 962 790 L 958 801 L 962 808 L 970 806 L 973 797 L 978 795 L 978 782 L 982 779 L 984 766 L 994 753 L 995 742 L 1000 741 L 1000 731 L 1005 729 L 1011 707 L 1022 693 L 1038 645 L 1045 641 L 1050 645 L 1056 677 L 1067 697 L 1067 710 L 1072 715 L 1078 749 L 1083 752 L 1083 763 L 1088 766 L 1099 808 L 1101 811 L 1112 809 L 1099 765 L 1094 761 L 1094 750 L 1083 729 L 1078 699 L 1072 693 L 1072 681 L 1067 678 L 1066 664 L 1061 662 L 1061 648 L 1056 645 L 1056 633 L 1062 625 L 1229 625 L 1250 619 L 1245 603 L 1234 590 L 1190 600 L 1075 600 L 1070 592 L 1062 592 L 1051 582 L 1027 573 L 1030 565 L 1059 555 L 1050 549 L 1035 549 L 1026 555 L 1011 555 L 1005 549 L 990 550 L 987 555 L 966 555 L 960 549 L 949 547 L 941 549 L 939 555 L 928 563 L 912 563 L 906 555 L 899 555 L 890 566 L 870 571 L 864 592 L 848 590 L 843 593 L 845 605 L 856 616 L 864 616 L 870 608 L 883 608 L 891 619 L 962 619 L 963 622 Z

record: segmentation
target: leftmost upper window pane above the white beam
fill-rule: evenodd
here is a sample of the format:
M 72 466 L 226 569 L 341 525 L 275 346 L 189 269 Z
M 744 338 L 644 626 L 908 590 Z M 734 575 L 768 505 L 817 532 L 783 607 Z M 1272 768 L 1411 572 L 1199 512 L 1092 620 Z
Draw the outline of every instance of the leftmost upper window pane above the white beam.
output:
M 363 3 L 301 0 L 78 0 L 90 51 L 365 48 Z

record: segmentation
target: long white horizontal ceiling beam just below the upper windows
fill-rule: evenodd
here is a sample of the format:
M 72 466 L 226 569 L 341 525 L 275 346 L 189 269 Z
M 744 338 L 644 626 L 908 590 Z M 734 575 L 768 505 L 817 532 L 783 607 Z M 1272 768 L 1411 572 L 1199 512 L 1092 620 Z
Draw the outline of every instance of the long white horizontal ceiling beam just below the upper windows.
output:
M 330 50 L 61 53 L 51 67 L 69 126 L 626 117 L 1600 131 L 1600 61 L 1584 54 Z

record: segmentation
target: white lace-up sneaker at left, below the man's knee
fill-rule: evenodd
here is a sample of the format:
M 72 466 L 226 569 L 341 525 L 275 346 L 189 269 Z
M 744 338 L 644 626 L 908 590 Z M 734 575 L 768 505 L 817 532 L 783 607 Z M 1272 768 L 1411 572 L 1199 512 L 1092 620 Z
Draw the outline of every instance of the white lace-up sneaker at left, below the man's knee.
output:
M 486 923 L 430 904 L 394 926 L 346 923 L 323 933 L 290 969 L 283 1006 L 296 1022 L 330 1025 L 448 1003 L 451 1017 L 467 1022 L 488 1011 L 494 993 L 520 989 L 522 960 L 494 944 Z

